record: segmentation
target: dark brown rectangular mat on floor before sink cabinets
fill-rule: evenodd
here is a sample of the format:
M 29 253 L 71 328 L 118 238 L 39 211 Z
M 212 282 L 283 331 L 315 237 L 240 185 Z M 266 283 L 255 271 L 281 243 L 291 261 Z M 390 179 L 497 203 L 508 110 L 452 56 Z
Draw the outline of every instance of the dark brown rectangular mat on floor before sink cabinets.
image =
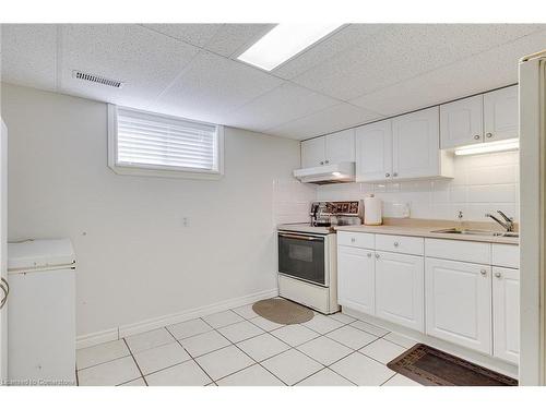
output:
M 518 381 L 510 376 L 424 344 L 417 344 L 387 366 L 422 385 L 518 386 Z

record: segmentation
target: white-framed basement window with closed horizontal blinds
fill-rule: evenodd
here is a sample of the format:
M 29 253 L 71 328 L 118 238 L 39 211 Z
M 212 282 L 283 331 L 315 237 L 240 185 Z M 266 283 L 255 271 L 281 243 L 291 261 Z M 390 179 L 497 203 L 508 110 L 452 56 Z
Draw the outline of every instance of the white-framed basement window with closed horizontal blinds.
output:
M 222 125 L 108 105 L 108 166 L 119 175 L 219 179 Z

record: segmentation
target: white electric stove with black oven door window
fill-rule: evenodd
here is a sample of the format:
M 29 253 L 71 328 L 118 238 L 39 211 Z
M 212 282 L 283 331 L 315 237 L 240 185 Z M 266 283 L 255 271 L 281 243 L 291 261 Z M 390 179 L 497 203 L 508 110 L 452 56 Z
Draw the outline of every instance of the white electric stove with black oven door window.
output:
M 313 202 L 310 222 L 278 226 L 281 297 L 324 314 L 340 311 L 334 226 L 361 225 L 363 207 L 363 201 Z

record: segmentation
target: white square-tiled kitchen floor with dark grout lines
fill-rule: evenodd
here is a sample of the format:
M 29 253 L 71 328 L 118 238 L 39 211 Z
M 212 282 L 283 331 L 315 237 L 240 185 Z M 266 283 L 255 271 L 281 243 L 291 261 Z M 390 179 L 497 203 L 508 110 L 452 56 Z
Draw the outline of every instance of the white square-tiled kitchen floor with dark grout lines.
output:
M 82 386 L 412 386 L 385 363 L 414 340 L 337 313 L 280 325 L 251 305 L 78 350 Z

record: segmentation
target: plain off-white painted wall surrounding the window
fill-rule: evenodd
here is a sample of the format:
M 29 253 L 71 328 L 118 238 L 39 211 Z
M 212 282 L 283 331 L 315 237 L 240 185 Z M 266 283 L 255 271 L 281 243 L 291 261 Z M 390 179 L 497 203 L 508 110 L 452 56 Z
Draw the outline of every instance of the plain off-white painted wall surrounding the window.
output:
M 276 287 L 273 181 L 298 142 L 226 129 L 219 181 L 118 176 L 105 104 L 12 85 L 2 103 L 9 238 L 72 239 L 79 335 Z

